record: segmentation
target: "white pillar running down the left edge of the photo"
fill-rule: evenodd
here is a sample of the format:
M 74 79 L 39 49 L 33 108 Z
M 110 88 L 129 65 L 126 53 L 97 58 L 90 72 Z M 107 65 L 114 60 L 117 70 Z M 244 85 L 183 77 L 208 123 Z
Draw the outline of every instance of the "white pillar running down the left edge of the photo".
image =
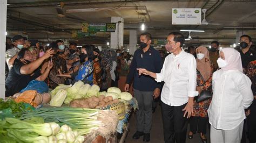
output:
M 5 98 L 5 32 L 7 0 L 0 1 L 0 98 Z

